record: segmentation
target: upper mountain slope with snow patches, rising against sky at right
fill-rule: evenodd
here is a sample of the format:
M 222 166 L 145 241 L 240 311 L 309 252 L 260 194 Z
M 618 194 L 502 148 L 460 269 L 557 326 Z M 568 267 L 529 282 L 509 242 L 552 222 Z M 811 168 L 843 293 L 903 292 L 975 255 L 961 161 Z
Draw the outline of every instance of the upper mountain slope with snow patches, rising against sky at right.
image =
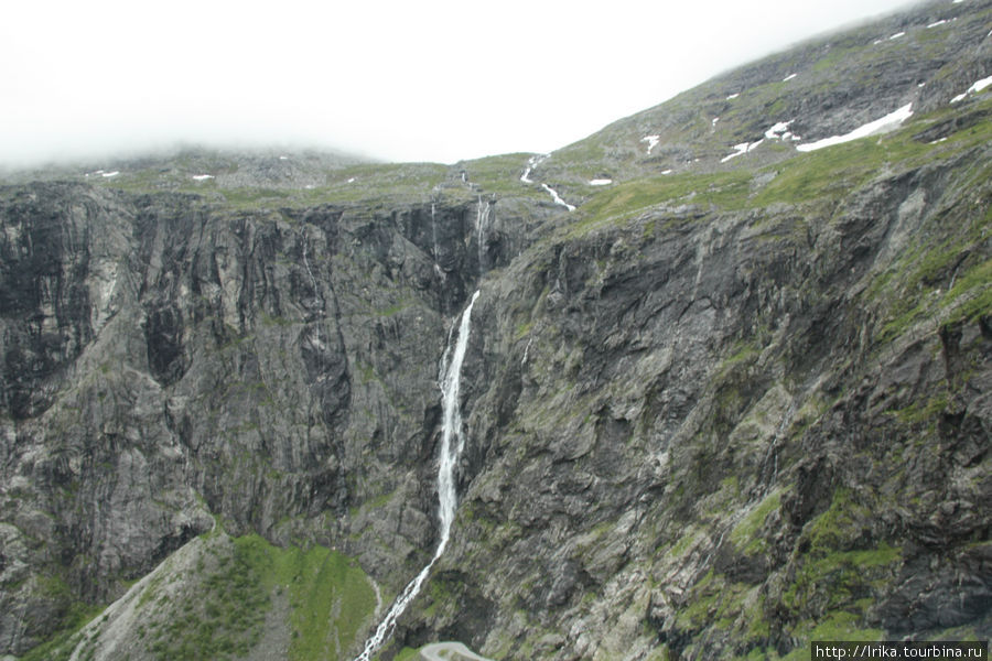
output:
M 847 133 L 907 104 L 917 113 L 945 108 L 989 75 L 990 11 L 970 0 L 929 2 L 812 40 L 619 120 L 543 165 L 572 185 L 738 169 L 789 158 L 795 142 Z M 768 137 L 779 123 L 789 138 Z M 747 159 L 724 162 L 734 145 L 758 141 Z

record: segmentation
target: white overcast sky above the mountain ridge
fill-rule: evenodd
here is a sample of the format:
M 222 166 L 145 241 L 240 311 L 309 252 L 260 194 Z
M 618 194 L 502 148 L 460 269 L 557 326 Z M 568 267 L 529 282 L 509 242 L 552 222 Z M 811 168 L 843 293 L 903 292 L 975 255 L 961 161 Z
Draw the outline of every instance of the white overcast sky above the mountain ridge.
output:
M 11 0 L 0 163 L 177 141 L 445 163 L 551 151 L 906 3 Z

